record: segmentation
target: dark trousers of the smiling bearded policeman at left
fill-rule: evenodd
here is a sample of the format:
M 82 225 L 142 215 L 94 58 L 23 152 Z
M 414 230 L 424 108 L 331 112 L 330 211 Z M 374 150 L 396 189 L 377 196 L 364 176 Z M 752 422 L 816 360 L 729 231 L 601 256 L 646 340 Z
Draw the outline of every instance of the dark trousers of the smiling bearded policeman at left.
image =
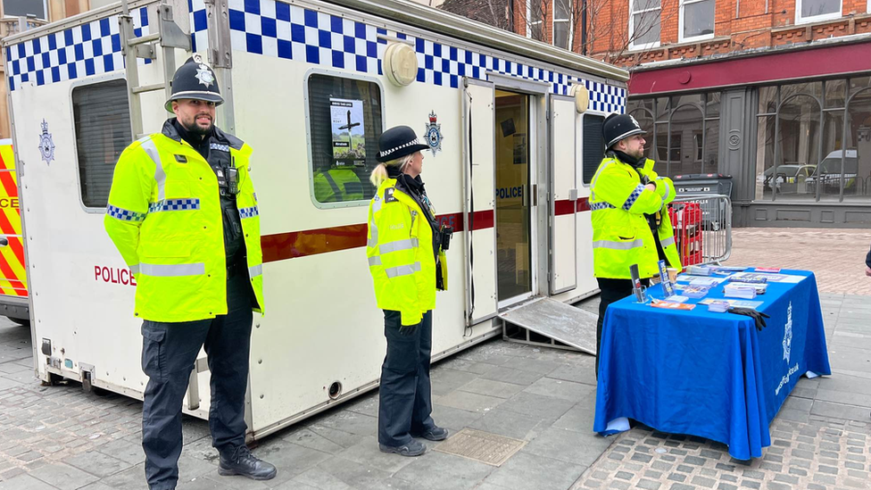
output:
M 247 274 L 228 279 L 227 290 L 226 315 L 211 320 L 142 323 L 142 370 L 148 375 L 142 405 L 142 448 L 151 490 L 170 490 L 178 482 L 182 399 L 203 345 L 212 371 L 212 445 L 228 457 L 245 445 L 245 390 L 253 320 Z

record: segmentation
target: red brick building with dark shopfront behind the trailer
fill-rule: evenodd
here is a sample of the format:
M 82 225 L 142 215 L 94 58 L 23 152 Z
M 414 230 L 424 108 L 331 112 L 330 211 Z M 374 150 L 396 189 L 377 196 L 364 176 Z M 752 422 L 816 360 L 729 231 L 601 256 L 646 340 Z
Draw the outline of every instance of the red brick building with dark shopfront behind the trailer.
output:
M 520 35 L 628 68 L 626 110 L 659 173 L 730 175 L 736 226 L 871 227 L 871 0 L 510 11 Z

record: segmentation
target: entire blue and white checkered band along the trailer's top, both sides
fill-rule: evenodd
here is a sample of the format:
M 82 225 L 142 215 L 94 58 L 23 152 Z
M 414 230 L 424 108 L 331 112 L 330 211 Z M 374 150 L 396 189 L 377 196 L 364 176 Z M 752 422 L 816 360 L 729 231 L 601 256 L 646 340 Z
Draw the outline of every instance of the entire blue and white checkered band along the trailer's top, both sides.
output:
M 189 0 L 188 6 L 194 49 L 204 50 L 208 46 L 205 5 L 203 0 Z M 134 33 L 148 34 L 145 7 L 137 12 Z M 387 46 L 386 39 L 378 36 L 393 36 L 408 40 L 417 51 L 421 83 L 459 88 L 464 76 L 487 79 L 487 72 L 498 72 L 546 82 L 552 93 L 561 95 L 568 95 L 573 84 L 583 84 L 590 91 L 588 108 L 593 111 L 624 112 L 626 107 L 622 87 L 435 42 L 435 35 L 413 37 L 282 0 L 229 0 L 229 23 L 233 49 L 252 54 L 376 76 L 383 75 L 381 59 Z M 45 85 L 122 70 L 118 29 L 118 16 L 112 15 L 9 46 L 6 75 L 10 89 L 22 83 Z

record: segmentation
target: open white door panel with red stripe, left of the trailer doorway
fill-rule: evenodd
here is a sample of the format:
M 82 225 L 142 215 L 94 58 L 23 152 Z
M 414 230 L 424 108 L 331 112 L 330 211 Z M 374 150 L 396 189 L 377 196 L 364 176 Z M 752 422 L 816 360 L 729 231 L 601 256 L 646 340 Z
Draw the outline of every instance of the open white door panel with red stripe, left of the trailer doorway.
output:
M 496 299 L 496 186 L 494 84 L 465 79 L 463 90 L 463 243 L 466 263 L 466 323 L 494 317 Z

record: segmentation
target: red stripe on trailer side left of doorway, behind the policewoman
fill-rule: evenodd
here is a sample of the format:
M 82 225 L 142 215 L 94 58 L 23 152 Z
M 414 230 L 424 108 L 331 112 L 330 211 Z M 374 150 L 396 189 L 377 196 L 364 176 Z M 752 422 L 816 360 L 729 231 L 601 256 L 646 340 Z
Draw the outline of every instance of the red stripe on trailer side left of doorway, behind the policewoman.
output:
M 493 210 L 474 212 L 469 217 L 472 229 L 493 228 Z M 440 223 L 463 230 L 462 213 L 442 214 Z M 261 237 L 263 262 L 277 262 L 318 253 L 338 252 L 366 246 L 365 224 L 290 231 Z

